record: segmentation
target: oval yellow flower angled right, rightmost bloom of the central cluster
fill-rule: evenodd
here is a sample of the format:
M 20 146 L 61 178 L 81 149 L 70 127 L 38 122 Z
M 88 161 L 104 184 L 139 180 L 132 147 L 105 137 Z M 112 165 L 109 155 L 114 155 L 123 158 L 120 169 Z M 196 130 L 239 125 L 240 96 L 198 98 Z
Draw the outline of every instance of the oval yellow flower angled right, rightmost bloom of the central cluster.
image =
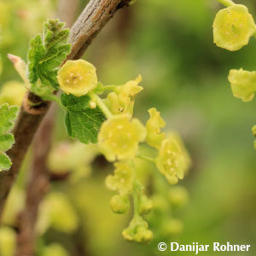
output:
M 177 134 L 169 134 L 163 140 L 156 158 L 156 166 L 170 184 L 176 184 L 179 179 L 183 179 L 190 166 L 190 160 Z

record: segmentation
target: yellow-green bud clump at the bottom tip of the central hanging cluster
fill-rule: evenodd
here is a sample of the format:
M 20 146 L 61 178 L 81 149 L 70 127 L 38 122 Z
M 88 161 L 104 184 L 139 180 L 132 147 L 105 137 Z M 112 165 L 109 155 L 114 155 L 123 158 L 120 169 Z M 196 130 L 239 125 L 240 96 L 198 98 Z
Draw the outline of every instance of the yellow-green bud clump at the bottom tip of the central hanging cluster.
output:
M 153 238 L 153 233 L 148 230 L 148 223 L 140 216 L 132 218 L 128 228 L 123 230 L 123 236 L 127 241 L 147 243 Z

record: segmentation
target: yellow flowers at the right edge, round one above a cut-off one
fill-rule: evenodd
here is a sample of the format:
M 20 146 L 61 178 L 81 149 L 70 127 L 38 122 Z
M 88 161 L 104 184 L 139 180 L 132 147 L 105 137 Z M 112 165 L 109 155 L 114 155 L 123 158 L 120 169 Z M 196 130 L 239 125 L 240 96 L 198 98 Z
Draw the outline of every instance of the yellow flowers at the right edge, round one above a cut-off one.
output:
M 218 12 L 213 22 L 214 43 L 224 49 L 237 50 L 248 44 L 249 39 L 255 36 L 256 25 L 246 6 L 232 1 L 228 5 L 230 6 Z M 253 100 L 256 92 L 256 71 L 231 69 L 228 79 L 233 96 L 243 102 Z M 256 149 L 256 142 L 254 148 Z

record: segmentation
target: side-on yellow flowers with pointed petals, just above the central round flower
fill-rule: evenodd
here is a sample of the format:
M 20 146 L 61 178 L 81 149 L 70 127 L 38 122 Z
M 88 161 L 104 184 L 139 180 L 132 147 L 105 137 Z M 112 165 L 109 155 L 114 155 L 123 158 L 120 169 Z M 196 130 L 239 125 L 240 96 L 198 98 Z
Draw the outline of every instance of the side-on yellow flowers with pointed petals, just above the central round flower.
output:
M 124 85 L 117 86 L 115 92 L 110 92 L 107 96 L 109 110 L 114 113 L 133 113 L 134 97 L 143 90 L 138 84 L 142 81 L 142 76 L 131 80 Z

